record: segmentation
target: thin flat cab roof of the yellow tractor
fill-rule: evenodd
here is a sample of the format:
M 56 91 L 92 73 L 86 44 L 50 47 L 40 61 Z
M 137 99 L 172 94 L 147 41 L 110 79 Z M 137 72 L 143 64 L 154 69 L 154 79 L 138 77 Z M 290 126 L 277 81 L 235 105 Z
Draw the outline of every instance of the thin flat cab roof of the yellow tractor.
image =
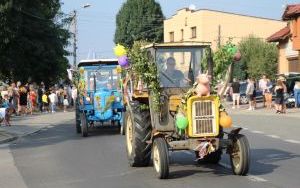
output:
M 195 42 L 195 41 L 186 41 L 186 42 L 166 42 L 166 43 L 152 43 L 149 45 L 144 46 L 144 48 L 156 48 L 156 47 L 162 47 L 162 48 L 168 48 L 168 47 L 205 47 L 205 46 L 211 46 L 210 42 Z

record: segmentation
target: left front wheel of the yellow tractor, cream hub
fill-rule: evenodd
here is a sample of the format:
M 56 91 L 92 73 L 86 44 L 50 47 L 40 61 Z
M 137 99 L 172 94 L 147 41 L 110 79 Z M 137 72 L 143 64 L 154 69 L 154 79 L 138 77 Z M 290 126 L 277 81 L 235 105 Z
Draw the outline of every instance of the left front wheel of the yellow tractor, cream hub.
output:
M 165 139 L 156 138 L 152 146 L 153 167 L 159 179 L 169 176 L 169 150 Z

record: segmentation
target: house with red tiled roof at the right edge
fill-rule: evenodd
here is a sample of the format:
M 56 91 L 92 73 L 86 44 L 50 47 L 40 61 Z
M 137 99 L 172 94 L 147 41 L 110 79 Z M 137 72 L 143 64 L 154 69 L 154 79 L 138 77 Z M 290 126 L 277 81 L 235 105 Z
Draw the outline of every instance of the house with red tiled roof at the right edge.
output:
M 286 26 L 267 41 L 277 42 L 279 74 L 300 73 L 300 4 L 288 5 L 282 20 L 286 21 Z

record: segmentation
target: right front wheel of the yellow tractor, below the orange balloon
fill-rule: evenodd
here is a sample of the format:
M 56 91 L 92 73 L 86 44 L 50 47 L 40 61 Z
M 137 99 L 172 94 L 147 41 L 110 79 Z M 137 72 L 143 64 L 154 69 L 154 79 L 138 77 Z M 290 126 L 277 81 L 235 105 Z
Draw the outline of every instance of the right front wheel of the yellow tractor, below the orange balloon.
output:
M 237 134 L 232 138 L 230 163 L 235 175 L 245 176 L 250 166 L 250 146 L 246 136 Z

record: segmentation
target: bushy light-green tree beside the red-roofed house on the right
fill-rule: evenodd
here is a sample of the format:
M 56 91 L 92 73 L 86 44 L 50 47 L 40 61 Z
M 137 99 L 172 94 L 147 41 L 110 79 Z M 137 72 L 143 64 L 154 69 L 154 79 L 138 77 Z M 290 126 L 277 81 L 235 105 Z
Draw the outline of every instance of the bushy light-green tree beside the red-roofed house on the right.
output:
M 268 75 L 271 79 L 277 73 L 278 49 L 275 44 L 267 43 L 262 39 L 249 36 L 239 43 L 242 54 L 240 66 L 235 67 L 235 72 L 241 72 L 241 78 L 259 78 Z M 236 75 L 237 76 L 237 75 Z

